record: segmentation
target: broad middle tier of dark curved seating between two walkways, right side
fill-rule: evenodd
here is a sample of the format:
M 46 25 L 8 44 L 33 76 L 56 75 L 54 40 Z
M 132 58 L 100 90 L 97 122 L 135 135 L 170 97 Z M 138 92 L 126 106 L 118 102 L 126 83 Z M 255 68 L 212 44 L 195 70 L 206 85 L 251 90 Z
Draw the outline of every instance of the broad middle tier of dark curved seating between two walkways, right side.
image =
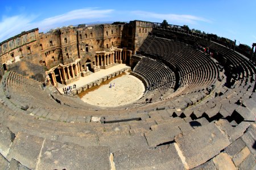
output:
M 170 64 L 176 72 L 176 79 L 179 80 L 176 88 L 203 89 L 214 84 L 219 76 L 217 66 L 212 59 L 184 42 L 148 36 L 138 51 L 144 56 L 154 57 Z M 189 91 L 188 89 L 185 91 Z

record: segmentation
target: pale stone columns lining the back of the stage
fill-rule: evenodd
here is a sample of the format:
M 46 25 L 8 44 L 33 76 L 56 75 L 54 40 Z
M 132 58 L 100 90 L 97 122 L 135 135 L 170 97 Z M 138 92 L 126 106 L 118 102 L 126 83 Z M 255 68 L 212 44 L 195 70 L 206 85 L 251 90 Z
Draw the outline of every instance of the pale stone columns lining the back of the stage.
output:
M 128 57 L 127 57 L 128 53 Z M 60 63 L 58 66 L 52 67 L 50 70 L 46 71 L 47 83 L 57 86 L 57 83 L 69 84 L 80 78 L 80 73 L 82 76 L 86 76 L 88 71 L 93 71 L 94 73 L 100 71 L 100 69 L 108 69 L 115 65 L 115 63 L 129 63 L 130 57 L 132 55 L 132 50 L 127 50 L 126 48 L 110 48 L 108 51 L 100 51 L 95 53 L 95 65 L 93 69 L 90 70 L 88 67 L 81 66 L 81 58 L 76 59 L 75 62 L 63 65 Z M 88 65 L 91 65 L 89 62 Z M 87 65 L 87 63 L 86 63 Z

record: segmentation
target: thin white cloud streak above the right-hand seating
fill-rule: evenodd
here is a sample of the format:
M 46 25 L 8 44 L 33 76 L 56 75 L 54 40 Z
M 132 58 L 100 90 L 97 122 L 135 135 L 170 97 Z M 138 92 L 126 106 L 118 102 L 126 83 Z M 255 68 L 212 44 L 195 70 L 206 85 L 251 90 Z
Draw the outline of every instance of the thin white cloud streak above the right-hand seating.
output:
M 166 19 L 167 22 L 177 22 L 177 23 L 188 23 L 196 24 L 197 22 L 207 22 L 211 23 L 210 20 L 193 15 L 177 15 L 177 14 L 157 14 L 154 12 L 146 11 L 131 11 L 133 15 L 141 16 L 144 19 Z

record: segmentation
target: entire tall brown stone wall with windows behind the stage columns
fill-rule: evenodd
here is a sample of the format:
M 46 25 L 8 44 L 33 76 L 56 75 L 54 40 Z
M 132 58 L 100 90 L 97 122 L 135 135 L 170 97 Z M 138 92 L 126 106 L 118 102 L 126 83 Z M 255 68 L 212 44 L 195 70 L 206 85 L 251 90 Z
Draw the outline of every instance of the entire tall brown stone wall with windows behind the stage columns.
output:
M 69 65 L 77 59 L 81 71 L 88 65 L 93 68 L 96 65 L 96 52 L 108 52 L 113 47 L 132 50 L 133 53 L 138 50 L 148 32 L 152 31 L 152 23 L 135 20 L 127 24 L 81 24 L 78 27 L 51 29 L 47 33 L 38 31 L 38 28 L 32 29 L 1 42 L 2 74 L 4 70 L 30 77 L 42 74 L 42 80 L 44 71 Z

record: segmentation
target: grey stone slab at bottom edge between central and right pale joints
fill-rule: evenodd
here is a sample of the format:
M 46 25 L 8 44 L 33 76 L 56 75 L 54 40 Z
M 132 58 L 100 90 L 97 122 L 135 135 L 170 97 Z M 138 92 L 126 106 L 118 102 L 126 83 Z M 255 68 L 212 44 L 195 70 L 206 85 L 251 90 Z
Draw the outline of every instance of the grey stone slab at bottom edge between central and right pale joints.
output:
M 173 143 L 156 148 L 122 148 L 113 154 L 116 169 L 185 169 Z

